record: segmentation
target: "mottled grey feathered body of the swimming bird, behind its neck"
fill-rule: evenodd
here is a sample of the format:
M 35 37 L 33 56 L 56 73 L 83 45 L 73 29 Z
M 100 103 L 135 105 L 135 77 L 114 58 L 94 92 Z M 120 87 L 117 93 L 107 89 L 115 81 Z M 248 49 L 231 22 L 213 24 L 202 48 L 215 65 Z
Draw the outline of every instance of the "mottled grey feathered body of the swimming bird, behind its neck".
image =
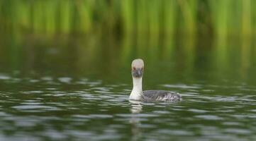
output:
M 182 96 L 177 92 L 165 90 L 145 90 L 142 94 L 144 101 L 179 101 Z

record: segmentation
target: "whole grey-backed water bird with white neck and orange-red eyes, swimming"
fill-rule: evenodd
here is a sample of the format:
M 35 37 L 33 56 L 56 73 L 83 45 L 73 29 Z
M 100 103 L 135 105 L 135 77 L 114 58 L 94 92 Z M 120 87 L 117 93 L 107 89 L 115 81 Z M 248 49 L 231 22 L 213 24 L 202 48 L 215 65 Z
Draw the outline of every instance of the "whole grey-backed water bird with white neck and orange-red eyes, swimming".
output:
M 143 91 L 143 69 L 142 59 L 135 59 L 132 63 L 133 90 L 129 99 L 143 101 L 179 101 L 182 96 L 176 92 L 165 90 L 146 90 Z

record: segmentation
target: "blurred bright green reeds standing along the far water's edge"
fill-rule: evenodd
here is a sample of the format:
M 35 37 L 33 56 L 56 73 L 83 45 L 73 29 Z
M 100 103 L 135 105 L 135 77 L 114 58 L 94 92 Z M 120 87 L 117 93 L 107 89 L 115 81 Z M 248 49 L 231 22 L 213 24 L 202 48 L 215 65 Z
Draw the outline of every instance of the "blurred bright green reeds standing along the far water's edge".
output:
M 255 4 L 252 0 L 1 0 L 0 30 L 50 36 L 247 38 L 255 36 Z

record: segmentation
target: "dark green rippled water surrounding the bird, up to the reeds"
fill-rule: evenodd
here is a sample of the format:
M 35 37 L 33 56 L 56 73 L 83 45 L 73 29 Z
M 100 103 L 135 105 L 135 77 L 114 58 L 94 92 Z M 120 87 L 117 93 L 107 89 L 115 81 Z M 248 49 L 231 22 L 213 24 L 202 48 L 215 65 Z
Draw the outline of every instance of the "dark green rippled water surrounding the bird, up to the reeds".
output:
M 239 42 L 7 39 L 0 140 L 256 140 L 255 56 Z M 136 57 L 144 90 L 182 101 L 129 102 Z

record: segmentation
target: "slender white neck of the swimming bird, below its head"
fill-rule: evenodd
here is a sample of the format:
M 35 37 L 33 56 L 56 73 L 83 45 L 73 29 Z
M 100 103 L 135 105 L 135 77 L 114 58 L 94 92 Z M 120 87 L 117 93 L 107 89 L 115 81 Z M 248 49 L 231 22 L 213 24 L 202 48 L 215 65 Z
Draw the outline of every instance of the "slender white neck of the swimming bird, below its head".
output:
M 143 94 L 143 77 L 133 77 L 133 90 L 130 93 L 129 99 L 140 100 L 141 94 Z

